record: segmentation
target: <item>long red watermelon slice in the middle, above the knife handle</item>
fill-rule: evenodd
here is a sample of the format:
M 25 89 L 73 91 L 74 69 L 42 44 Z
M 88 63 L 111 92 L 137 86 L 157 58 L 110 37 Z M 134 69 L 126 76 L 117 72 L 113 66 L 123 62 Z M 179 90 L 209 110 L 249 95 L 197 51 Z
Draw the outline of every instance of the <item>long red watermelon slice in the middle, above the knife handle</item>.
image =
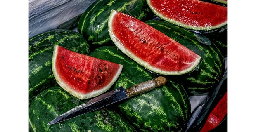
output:
M 108 26 L 115 45 L 153 72 L 180 75 L 192 71 L 201 60 L 164 33 L 127 14 L 112 10 Z

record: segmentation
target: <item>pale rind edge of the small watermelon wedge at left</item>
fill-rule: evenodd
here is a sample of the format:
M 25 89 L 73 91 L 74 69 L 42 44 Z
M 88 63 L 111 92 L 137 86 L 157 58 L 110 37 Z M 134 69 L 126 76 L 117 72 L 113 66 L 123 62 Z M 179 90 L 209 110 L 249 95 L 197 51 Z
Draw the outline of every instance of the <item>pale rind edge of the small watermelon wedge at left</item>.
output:
M 57 56 L 58 47 L 60 47 L 60 46 L 59 45 L 54 46 L 54 51 L 53 51 L 53 56 L 52 56 L 52 72 L 53 72 L 53 75 L 55 77 L 56 82 L 59 84 L 60 87 L 62 87 L 64 90 L 69 92 L 74 97 L 77 97 L 78 99 L 89 99 L 89 98 L 96 97 L 96 96 L 106 92 L 116 82 L 117 78 L 119 77 L 119 75 L 121 74 L 121 71 L 123 69 L 123 65 L 119 64 L 120 67 L 117 70 L 116 75 L 114 76 L 114 78 L 111 80 L 111 82 L 107 86 L 102 87 L 100 90 L 95 90 L 93 92 L 90 92 L 88 94 L 81 94 L 81 93 L 76 92 L 75 90 L 73 90 L 71 87 L 66 85 L 64 82 L 62 82 L 61 79 L 59 79 L 59 75 L 57 74 L 57 71 L 55 71 L 55 60 L 56 60 L 55 58 Z

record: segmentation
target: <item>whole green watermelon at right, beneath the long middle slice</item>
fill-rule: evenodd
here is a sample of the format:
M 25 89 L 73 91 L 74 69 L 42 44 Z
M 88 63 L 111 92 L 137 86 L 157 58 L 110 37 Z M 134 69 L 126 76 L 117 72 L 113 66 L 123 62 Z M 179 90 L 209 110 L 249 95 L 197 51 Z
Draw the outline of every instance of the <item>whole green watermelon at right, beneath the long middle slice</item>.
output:
M 194 33 L 166 21 L 149 20 L 146 23 L 203 58 L 194 71 L 183 75 L 168 76 L 169 79 L 183 85 L 190 94 L 211 92 L 216 87 L 224 74 L 225 61 L 214 41 L 210 44 L 202 43 L 202 40 L 197 40 L 198 36 Z

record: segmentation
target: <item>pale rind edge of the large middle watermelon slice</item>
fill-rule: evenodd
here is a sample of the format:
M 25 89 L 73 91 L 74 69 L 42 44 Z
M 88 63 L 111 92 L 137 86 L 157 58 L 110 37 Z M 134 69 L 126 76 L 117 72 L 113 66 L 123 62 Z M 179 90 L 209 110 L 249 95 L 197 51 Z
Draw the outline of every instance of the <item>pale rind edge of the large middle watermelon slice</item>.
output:
M 140 64 L 141 66 L 159 73 L 159 74 L 163 74 L 163 75 L 182 75 L 185 73 L 188 73 L 190 71 L 192 71 L 194 68 L 197 67 L 197 65 L 199 64 L 199 62 L 201 61 L 201 57 L 198 56 L 199 58 L 197 58 L 196 61 L 194 61 L 194 64 L 192 66 L 190 66 L 190 68 L 187 68 L 183 71 L 165 71 L 165 70 L 161 70 L 159 68 L 155 68 L 154 66 L 151 66 L 150 64 L 148 64 L 146 61 L 143 61 L 142 59 L 140 59 L 139 57 L 137 57 L 136 55 L 132 54 L 128 49 L 125 49 L 122 45 L 122 43 L 119 41 L 119 39 L 114 35 L 113 30 L 112 30 L 112 21 L 113 18 L 115 16 L 115 14 L 117 13 L 117 11 L 112 10 L 109 16 L 109 35 L 110 38 L 113 40 L 113 42 L 115 43 L 115 45 L 119 48 L 119 50 L 121 50 L 124 54 L 126 54 L 128 57 L 130 57 L 131 59 L 133 59 L 134 61 L 136 61 L 138 64 Z

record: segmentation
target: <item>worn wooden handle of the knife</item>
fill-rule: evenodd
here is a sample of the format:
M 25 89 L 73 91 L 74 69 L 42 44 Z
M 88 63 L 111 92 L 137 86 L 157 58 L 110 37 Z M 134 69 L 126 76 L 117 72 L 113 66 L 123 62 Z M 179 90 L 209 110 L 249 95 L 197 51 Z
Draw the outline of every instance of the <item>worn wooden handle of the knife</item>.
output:
M 165 83 L 166 83 L 166 78 L 159 76 L 158 78 L 134 85 L 133 87 L 130 87 L 125 91 L 129 98 L 138 94 L 142 94 L 142 93 L 154 90 L 156 87 L 165 85 Z

